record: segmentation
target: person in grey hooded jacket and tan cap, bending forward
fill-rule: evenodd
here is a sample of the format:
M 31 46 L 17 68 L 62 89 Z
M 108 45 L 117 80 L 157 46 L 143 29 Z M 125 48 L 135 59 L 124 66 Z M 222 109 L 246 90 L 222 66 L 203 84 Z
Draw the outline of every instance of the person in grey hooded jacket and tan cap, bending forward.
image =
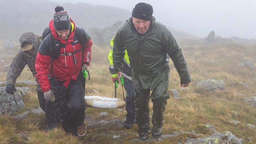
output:
M 10 65 L 10 68 L 7 73 L 7 82 L 6 82 L 6 92 L 8 94 L 14 94 L 16 79 L 20 76 L 20 73 L 23 71 L 24 67 L 28 65 L 28 70 L 32 72 L 35 77 L 35 60 L 38 53 L 39 46 L 41 44 L 40 38 L 32 32 L 26 32 L 20 37 L 20 47 L 21 50 L 13 58 L 13 62 Z M 55 127 L 55 110 L 53 103 L 48 102 L 44 99 L 44 92 L 41 91 L 40 84 L 35 77 L 37 82 L 36 91 L 39 100 L 39 105 L 45 112 L 45 131 L 48 131 Z M 57 118 L 58 119 L 58 118 Z

